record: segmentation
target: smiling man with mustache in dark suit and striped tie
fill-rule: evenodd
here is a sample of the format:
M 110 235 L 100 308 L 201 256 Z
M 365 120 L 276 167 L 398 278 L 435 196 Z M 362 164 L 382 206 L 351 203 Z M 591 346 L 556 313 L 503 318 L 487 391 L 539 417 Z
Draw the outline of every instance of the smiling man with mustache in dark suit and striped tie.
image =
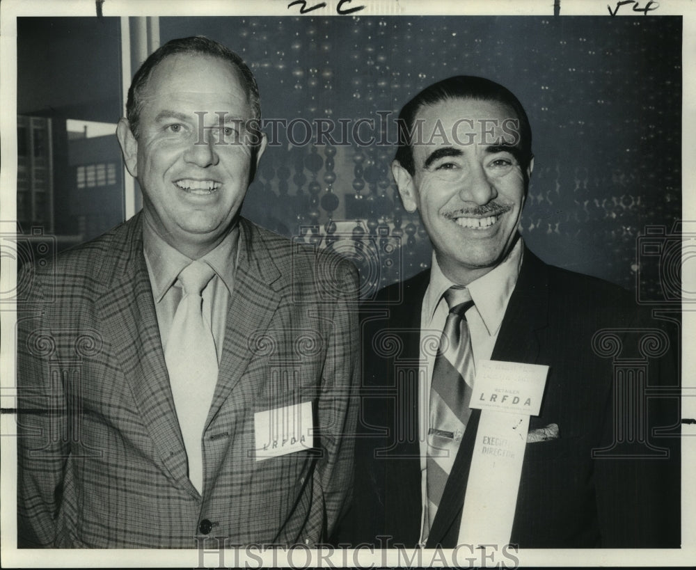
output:
M 615 395 L 622 384 L 595 342 L 615 331 L 627 351 L 631 335 L 661 324 L 643 320 L 620 287 L 545 264 L 525 246 L 534 158 L 519 100 L 488 79 L 451 77 L 413 97 L 399 128 L 392 173 L 434 252 L 430 269 L 364 306 L 355 504 L 339 539 L 474 553 L 484 528 L 498 552 L 508 542 L 678 546 L 678 440 L 650 441 L 631 457 L 606 451 L 625 436 L 615 426 L 651 434 L 675 425 L 674 400 L 626 412 L 630 399 Z M 678 384 L 674 351 L 665 353 L 634 355 L 649 362 L 653 386 Z M 498 380 L 512 370 L 512 385 L 484 395 L 484 361 Z M 531 402 L 514 376 L 529 365 L 544 370 L 543 398 L 538 413 L 517 419 L 504 406 Z M 475 409 L 484 400 L 502 411 Z M 507 436 L 484 431 L 508 421 Z M 671 448 L 655 460 L 658 445 Z

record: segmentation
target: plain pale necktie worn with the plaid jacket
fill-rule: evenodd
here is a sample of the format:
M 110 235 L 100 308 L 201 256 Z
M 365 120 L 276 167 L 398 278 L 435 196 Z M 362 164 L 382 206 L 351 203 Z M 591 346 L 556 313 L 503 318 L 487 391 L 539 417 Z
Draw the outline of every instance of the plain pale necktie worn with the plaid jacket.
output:
M 201 438 L 218 377 L 215 341 L 203 319 L 205 285 L 212 268 L 194 261 L 179 274 L 184 292 L 169 331 L 164 359 L 169 371 L 174 405 L 189 459 L 189 479 L 203 493 Z

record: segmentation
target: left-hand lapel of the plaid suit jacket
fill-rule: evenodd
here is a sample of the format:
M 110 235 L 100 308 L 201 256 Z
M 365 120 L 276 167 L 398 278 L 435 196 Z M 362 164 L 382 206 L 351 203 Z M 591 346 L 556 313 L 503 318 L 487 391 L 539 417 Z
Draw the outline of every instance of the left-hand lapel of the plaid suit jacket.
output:
M 125 247 L 120 253 L 115 252 L 113 283 L 95 303 L 97 313 L 155 450 L 173 479 L 186 484 L 186 452 L 143 255 L 141 217 L 136 216 L 126 227 Z

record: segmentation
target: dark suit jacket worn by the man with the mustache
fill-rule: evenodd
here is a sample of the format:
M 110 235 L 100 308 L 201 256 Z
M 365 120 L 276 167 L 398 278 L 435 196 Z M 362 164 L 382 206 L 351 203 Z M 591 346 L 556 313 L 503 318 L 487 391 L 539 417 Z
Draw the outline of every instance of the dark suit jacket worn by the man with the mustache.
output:
M 418 543 L 416 388 L 420 311 L 428 283 L 425 271 L 386 287 L 377 303 L 365 305 L 356 490 L 339 541 L 382 548 Z M 645 381 L 656 390 L 661 382 L 677 386 L 669 351 L 651 357 L 674 345 L 655 332 L 664 322 L 637 319 L 625 290 L 548 266 L 525 249 L 491 358 L 550 366 L 541 413 L 530 418 L 530 431 L 556 423 L 560 438 L 526 446 L 511 544 L 679 545 L 678 399 L 648 397 L 643 390 Z M 649 339 L 660 350 L 651 352 Z M 670 366 L 671 372 L 665 370 Z M 640 409 L 615 411 L 622 402 Z M 457 543 L 479 418 L 480 411 L 473 411 L 429 547 Z M 669 428 L 673 436 L 656 437 L 656 427 Z M 619 445 L 611 450 L 612 442 Z M 593 450 L 603 449 L 593 459 Z

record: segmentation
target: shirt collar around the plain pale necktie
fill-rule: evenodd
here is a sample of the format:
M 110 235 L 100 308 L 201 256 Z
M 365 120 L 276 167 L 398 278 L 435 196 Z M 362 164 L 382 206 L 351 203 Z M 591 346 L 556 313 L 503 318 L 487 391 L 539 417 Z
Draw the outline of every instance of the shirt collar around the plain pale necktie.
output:
M 143 219 L 145 220 L 143 223 L 143 251 L 152 278 L 152 293 L 155 296 L 155 302 L 159 303 L 170 287 L 174 285 L 181 270 L 193 260 L 165 242 L 155 230 L 148 216 L 143 216 Z M 232 286 L 235 282 L 238 243 L 239 223 L 235 223 L 222 242 L 200 258 L 201 261 L 212 267 L 216 275 L 225 283 L 230 294 L 232 294 Z

